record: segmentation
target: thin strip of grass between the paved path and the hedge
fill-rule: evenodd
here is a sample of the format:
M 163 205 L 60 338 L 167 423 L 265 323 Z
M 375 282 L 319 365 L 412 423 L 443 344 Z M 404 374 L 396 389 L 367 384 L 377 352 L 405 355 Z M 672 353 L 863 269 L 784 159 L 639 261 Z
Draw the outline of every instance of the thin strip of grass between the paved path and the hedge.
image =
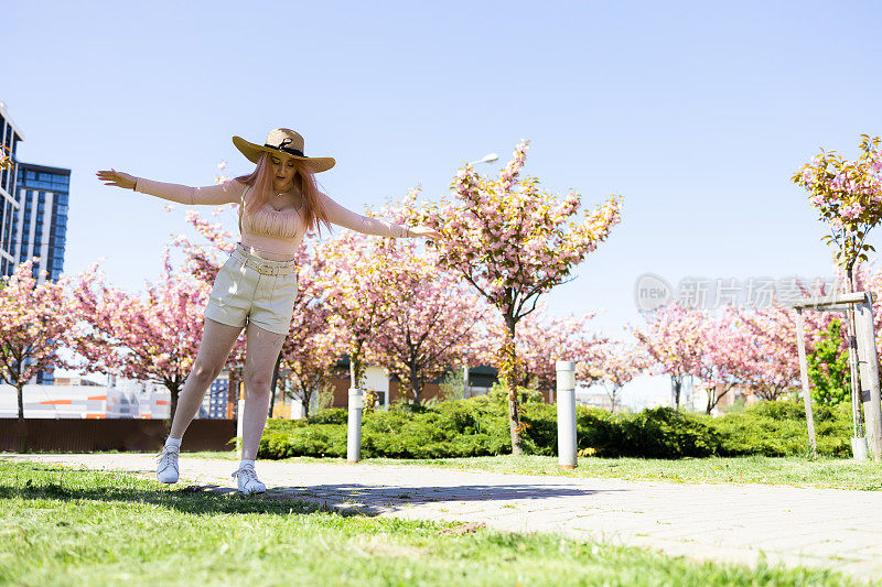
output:
M 235 453 L 185 453 L 206 458 L 235 459 Z M 298 457 L 300 463 L 345 463 L 337 458 Z M 669 481 L 681 483 L 767 483 L 800 487 L 829 487 L 878 491 L 882 489 L 882 465 L 872 460 L 799 457 L 736 457 L 685 458 L 662 460 L 650 458 L 579 459 L 574 470 L 558 467 L 557 457 L 496 456 L 445 458 L 431 460 L 368 458 L 366 465 L 418 465 L 462 470 L 487 470 L 521 475 L 559 475 L 564 477 L 606 477 L 630 480 Z

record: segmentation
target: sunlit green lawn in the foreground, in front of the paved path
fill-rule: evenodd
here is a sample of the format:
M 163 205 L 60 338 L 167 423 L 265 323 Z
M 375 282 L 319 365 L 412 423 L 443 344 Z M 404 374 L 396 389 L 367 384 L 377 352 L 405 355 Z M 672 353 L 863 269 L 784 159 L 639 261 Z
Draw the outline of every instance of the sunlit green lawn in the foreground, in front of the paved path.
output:
M 0 584 L 857 585 L 825 570 L 451 526 L 0 460 Z

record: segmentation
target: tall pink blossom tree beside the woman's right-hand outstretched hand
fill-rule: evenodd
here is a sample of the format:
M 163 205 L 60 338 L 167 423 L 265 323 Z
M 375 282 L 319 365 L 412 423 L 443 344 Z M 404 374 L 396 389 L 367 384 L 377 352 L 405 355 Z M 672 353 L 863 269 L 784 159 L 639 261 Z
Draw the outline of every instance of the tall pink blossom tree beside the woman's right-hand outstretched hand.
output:
M 439 230 L 439 267 L 461 274 L 499 313 L 507 338 L 497 351 L 499 381 L 508 394 L 513 454 L 523 453 L 519 400 L 515 381 L 520 362 L 516 326 L 536 308 L 538 297 L 569 281 L 574 265 L 605 240 L 620 220 L 616 196 L 593 211 L 578 214 L 581 196 L 558 197 L 521 177 L 527 141 L 497 180 L 480 177 L 466 164 L 439 204 L 413 208 L 420 224 Z M 442 226 L 443 224 L 443 226 Z M 571 278 L 574 279 L 574 278 Z

